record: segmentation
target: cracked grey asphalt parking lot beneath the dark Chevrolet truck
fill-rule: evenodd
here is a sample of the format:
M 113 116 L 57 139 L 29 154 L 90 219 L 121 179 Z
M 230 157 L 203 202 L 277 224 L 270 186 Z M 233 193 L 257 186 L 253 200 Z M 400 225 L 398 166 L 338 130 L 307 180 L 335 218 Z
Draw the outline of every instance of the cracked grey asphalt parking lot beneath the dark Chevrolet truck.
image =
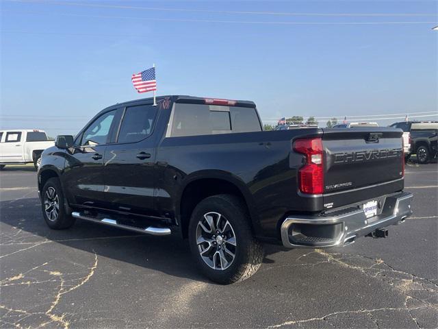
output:
M 407 164 L 413 217 L 339 249 L 267 246 L 240 284 L 207 282 L 188 243 L 45 225 L 31 167 L 0 172 L 2 328 L 437 328 L 438 166 Z

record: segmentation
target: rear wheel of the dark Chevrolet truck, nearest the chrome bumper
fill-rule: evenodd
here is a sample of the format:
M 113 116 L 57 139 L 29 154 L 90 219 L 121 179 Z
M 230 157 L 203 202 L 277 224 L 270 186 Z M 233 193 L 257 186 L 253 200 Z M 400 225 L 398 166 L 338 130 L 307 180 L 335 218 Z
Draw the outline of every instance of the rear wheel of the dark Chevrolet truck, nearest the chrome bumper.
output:
M 246 207 L 234 195 L 203 199 L 192 213 L 189 240 L 198 268 L 220 284 L 253 276 L 263 260 L 263 246 L 253 236 Z

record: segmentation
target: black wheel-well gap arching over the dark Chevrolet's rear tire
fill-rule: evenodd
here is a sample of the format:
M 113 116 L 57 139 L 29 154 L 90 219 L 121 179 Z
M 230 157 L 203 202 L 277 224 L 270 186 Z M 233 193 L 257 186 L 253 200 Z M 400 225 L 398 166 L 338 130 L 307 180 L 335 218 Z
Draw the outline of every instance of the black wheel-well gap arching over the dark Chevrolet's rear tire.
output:
M 208 171 L 192 175 L 181 188 L 177 213 L 179 214 L 181 233 L 184 238 L 188 236 L 190 216 L 196 205 L 203 199 L 218 194 L 231 194 L 240 197 L 250 216 L 250 224 L 253 230 L 257 229 L 258 217 L 255 214 L 253 197 L 250 195 L 246 184 L 230 173 Z

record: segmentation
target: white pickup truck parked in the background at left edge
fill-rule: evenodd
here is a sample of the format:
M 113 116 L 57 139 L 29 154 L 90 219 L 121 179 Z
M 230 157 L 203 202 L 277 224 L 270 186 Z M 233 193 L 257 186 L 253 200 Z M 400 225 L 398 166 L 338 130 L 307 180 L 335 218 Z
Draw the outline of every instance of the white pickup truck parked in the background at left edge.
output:
M 55 145 L 43 130 L 0 130 L 0 170 L 6 164 L 40 165 L 41 153 Z

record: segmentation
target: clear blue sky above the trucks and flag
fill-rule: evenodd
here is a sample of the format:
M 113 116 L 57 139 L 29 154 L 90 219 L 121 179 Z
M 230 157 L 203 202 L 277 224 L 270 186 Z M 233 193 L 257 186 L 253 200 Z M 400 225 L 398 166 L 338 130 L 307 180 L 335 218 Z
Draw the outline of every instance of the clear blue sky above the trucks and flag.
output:
M 153 63 L 158 95 L 250 99 L 263 119 L 437 111 L 437 1 L 54 2 L 1 1 L 1 127 L 75 134 L 150 97 L 131 74 Z

